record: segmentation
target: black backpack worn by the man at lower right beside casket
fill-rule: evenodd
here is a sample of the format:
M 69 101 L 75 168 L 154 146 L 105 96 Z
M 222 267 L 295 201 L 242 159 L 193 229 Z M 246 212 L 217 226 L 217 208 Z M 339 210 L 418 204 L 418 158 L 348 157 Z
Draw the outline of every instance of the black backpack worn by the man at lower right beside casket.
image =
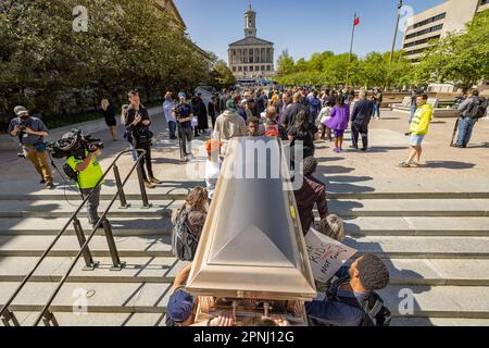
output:
M 339 297 L 337 295 L 340 285 L 349 278 L 350 276 L 347 275 L 333 283 L 327 291 L 328 300 L 338 301 L 360 309 L 363 312 L 362 323 L 360 326 L 389 326 L 392 320 L 392 314 L 390 310 L 384 306 L 384 300 L 377 293 L 372 291 L 368 295 L 368 298 L 362 303 L 360 303 L 354 297 Z

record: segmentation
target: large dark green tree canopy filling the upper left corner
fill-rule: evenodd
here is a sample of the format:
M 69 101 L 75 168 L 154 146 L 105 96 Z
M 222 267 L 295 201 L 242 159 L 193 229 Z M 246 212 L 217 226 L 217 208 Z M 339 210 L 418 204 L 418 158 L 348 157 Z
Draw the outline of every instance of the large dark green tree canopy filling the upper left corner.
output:
M 73 29 L 76 5 L 87 32 Z M 209 62 L 153 0 L 2 0 L 0 41 L 0 113 L 79 112 L 130 88 L 153 98 L 209 79 Z

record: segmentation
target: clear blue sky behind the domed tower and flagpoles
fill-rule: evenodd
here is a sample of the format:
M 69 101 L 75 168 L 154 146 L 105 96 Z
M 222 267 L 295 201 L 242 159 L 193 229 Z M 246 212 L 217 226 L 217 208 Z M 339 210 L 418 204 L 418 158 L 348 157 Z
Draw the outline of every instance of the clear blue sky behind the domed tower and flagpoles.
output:
M 405 0 L 414 13 L 444 0 Z M 228 44 L 243 38 L 249 0 L 175 0 L 191 39 L 227 61 Z M 361 18 L 353 51 L 389 51 L 397 0 L 252 0 L 258 36 L 275 42 L 275 60 L 288 49 L 297 60 L 314 52 L 348 52 L 354 12 Z M 399 32 L 400 48 L 403 34 Z

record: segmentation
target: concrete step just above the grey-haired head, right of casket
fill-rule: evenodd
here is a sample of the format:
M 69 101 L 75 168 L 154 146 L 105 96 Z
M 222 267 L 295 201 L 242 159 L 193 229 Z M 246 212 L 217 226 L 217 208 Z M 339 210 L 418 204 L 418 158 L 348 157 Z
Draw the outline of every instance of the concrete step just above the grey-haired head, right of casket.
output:
M 489 199 L 364 199 L 331 200 L 340 216 L 489 216 Z

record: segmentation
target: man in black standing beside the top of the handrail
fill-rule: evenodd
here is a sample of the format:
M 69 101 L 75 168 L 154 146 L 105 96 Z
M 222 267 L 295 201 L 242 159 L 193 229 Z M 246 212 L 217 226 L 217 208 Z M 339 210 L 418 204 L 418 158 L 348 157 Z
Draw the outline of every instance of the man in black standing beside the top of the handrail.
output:
M 135 149 L 146 151 L 145 158 L 139 162 L 145 186 L 147 188 L 155 188 L 155 184 L 162 184 L 163 182 L 159 181 L 153 175 L 151 163 L 151 139 L 153 138 L 153 133 L 149 129 L 151 120 L 148 110 L 141 105 L 139 94 L 136 90 L 129 91 L 128 98 L 130 105 L 127 109 L 126 130 L 130 132 L 133 135 Z M 145 162 L 148 174 L 145 172 Z

